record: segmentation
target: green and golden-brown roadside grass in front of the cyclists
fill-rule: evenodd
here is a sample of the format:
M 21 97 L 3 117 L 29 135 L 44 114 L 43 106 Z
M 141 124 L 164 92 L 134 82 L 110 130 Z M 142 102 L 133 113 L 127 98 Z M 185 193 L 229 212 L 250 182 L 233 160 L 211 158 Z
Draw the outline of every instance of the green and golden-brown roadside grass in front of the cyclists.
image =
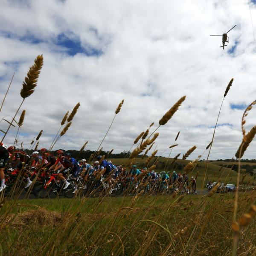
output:
M 234 194 L 9 201 L 3 255 L 230 255 Z M 239 195 L 238 216 L 256 193 Z M 238 255 L 256 253 L 256 221 Z M 8 236 L 6 235 L 8 234 Z

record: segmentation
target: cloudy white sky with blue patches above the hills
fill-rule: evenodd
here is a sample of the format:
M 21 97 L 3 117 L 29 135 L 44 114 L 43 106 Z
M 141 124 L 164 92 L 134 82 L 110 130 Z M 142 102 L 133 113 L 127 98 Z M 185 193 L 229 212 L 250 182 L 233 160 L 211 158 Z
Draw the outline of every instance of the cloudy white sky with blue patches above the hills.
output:
M 250 2 L 253 27 L 256 3 Z M 209 159 L 231 158 L 241 143 L 241 117 L 256 96 L 256 44 L 247 1 L 241 0 L 0 0 L 0 101 L 15 76 L 0 113 L 10 120 L 22 98 L 20 89 L 37 55 L 44 66 L 26 109 L 18 145 L 27 148 L 42 129 L 39 148 L 52 143 L 67 111 L 81 106 L 54 149 L 76 149 L 88 141 L 128 151 L 134 139 L 154 122 L 152 131 L 180 97 L 179 110 L 157 131 L 157 155 L 171 157 L 193 145 L 193 160 L 212 139 L 227 84 L 234 78 L 221 109 Z M 234 25 L 223 51 L 221 35 Z M 246 118 L 254 125 L 255 109 Z M 7 116 L 9 115 L 9 116 Z M 6 130 L 7 123 L 0 122 Z M 3 141 L 11 145 L 17 127 Z M 3 134 L 0 134 L 2 136 Z M 152 148 L 153 151 L 155 147 Z M 202 159 L 207 158 L 206 151 Z M 256 142 L 244 158 L 256 158 Z

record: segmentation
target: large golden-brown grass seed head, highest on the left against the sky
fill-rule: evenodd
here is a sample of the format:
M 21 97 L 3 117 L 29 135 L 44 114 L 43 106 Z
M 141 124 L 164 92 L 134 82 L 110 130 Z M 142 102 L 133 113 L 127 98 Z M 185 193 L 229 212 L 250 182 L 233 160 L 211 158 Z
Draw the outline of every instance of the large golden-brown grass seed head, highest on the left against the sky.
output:
M 22 88 L 20 90 L 20 96 L 25 99 L 29 97 L 37 86 L 38 77 L 40 74 L 40 70 L 44 64 L 43 55 L 38 55 L 35 58 L 34 65 L 29 68 L 27 76 L 23 81 Z

